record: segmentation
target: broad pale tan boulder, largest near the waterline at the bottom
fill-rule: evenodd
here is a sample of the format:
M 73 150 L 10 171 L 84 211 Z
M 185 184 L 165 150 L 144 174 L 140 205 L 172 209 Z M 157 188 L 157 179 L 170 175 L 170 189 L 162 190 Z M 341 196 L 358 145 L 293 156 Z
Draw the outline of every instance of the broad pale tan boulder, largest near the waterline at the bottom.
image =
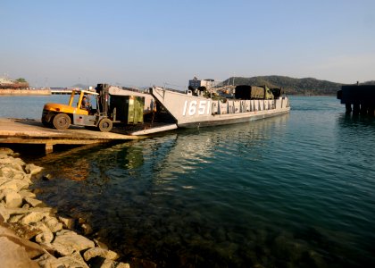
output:
M 61 255 L 71 255 L 74 251 L 95 247 L 93 241 L 79 236 L 71 230 L 61 230 L 57 232 L 52 245 Z

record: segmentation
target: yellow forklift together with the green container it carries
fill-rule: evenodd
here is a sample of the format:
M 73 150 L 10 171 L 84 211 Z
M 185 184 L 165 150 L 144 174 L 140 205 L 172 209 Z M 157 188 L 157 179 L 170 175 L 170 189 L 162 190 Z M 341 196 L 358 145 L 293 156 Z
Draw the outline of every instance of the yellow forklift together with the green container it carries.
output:
M 48 103 L 43 107 L 42 123 L 56 130 L 71 125 L 108 132 L 113 123 L 143 123 L 145 98 L 142 96 L 110 96 L 109 85 L 98 84 L 96 91 L 73 89 L 68 105 Z M 82 105 L 84 96 L 95 98 L 95 106 Z M 76 103 L 75 103 L 76 102 Z

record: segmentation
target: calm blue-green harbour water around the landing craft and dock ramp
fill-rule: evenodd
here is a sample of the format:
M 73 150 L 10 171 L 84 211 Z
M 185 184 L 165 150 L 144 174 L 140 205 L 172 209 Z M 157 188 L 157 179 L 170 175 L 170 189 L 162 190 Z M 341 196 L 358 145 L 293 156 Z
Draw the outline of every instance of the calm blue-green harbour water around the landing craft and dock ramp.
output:
M 0 96 L 39 119 L 67 96 Z M 375 121 L 335 97 L 291 97 L 263 121 L 30 158 L 38 195 L 158 267 L 375 267 Z M 25 156 L 26 157 L 26 156 Z

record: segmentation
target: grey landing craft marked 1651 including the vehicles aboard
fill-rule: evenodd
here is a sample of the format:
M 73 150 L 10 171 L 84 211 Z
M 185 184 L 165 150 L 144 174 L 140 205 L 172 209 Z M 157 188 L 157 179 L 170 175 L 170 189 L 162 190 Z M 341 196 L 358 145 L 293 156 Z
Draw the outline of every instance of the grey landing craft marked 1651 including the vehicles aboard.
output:
M 151 93 L 179 128 L 253 121 L 290 111 L 289 99 L 281 96 L 279 88 L 237 86 L 235 96 L 240 98 L 216 99 L 210 90 L 190 88 L 182 93 L 154 87 Z

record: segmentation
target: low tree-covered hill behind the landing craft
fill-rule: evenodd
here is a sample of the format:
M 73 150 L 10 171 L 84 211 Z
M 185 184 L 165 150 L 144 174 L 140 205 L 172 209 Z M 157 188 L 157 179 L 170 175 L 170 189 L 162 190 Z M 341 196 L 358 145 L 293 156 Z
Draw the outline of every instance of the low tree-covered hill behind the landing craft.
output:
M 336 95 L 337 90 L 344 84 L 334 83 L 327 80 L 317 80 L 314 78 L 294 79 L 287 76 L 270 75 L 255 76 L 251 78 L 231 77 L 223 81 L 224 85 L 249 85 L 262 86 L 269 88 L 283 88 L 287 94 L 295 95 Z M 361 85 L 375 85 L 375 81 L 361 83 Z

